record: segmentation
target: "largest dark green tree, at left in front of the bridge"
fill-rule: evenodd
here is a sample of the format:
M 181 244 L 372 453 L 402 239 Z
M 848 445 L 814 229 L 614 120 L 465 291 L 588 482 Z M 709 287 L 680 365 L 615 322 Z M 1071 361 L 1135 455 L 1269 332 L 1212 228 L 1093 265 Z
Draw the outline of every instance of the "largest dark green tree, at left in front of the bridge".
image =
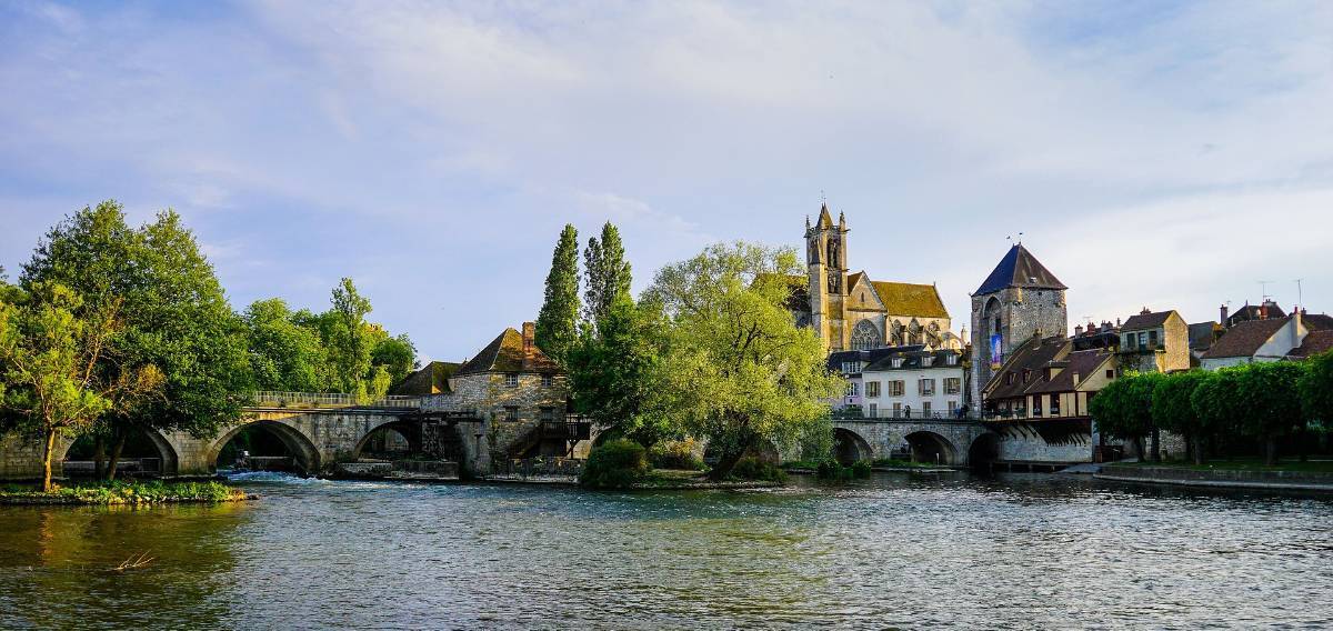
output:
M 165 376 L 164 396 L 99 419 L 99 438 L 113 444 L 109 476 L 132 431 L 207 432 L 239 418 L 237 394 L 249 379 L 244 326 L 177 213 L 164 211 L 135 229 L 115 201 L 84 208 L 48 232 L 20 281 L 28 289 L 64 284 L 89 312 L 116 305 L 123 331 L 101 354 L 99 379 L 129 379 L 147 367 Z

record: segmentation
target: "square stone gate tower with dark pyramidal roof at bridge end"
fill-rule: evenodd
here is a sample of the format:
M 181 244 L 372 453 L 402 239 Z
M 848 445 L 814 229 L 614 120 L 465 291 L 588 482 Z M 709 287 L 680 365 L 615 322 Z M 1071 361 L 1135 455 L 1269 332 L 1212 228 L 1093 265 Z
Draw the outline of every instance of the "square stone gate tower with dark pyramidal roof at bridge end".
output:
M 1033 336 L 1069 335 L 1065 287 L 1017 244 L 972 293 L 972 404 L 1014 348 Z

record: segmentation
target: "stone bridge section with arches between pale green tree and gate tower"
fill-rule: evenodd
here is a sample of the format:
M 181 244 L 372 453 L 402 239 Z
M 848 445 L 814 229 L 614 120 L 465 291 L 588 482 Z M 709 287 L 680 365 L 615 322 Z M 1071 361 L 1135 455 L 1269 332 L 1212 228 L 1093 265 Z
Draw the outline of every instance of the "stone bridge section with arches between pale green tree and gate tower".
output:
M 834 419 L 833 439 L 842 463 L 902 458 L 965 467 L 993 460 L 998 436 L 976 420 L 957 419 Z

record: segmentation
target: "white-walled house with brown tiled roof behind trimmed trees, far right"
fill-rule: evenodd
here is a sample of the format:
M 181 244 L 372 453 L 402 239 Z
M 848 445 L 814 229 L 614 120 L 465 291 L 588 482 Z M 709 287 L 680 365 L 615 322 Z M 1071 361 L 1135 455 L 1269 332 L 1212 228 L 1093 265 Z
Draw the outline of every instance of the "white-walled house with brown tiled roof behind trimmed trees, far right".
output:
M 1310 332 L 1330 330 L 1333 318 L 1301 311 L 1285 318 L 1244 320 L 1226 330 L 1201 362 L 1204 370 L 1209 371 L 1257 362 L 1280 362 L 1292 351 L 1300 350 Z

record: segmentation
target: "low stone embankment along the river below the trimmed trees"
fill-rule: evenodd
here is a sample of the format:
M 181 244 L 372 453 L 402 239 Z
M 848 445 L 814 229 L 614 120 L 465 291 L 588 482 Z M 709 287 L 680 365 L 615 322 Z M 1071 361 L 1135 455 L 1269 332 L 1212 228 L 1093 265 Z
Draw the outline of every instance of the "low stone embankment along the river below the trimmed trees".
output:
M 1321 467 L 1293 468 L 1218 468 L 1209 466 L 1105 464 L 1093 474 L 1098 480 L 1138 484 L 1168 484 L 1197 488 L 1237 488 L 1256 491 L 1298 491 L 1333 494 L 1333 472 Z

